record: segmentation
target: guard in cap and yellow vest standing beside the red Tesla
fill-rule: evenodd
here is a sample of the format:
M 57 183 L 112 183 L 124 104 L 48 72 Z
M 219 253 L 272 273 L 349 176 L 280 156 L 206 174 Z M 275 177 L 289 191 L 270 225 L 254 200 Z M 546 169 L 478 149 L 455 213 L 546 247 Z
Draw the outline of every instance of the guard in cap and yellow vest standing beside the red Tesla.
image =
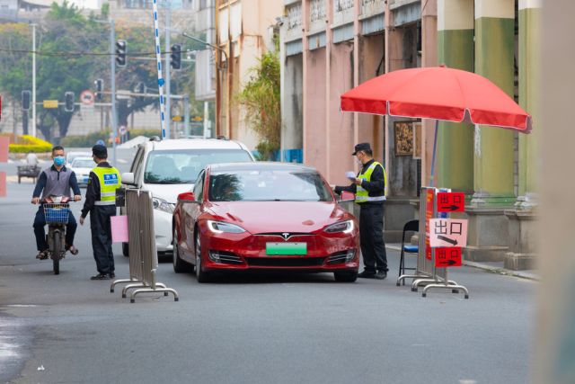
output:
M 387 183 L 384 166 L 377 163 L 369 143 L 360 143 L 352 154 L 361 163 L 361 171 L 347 187 L 336 186 L 335 192 L 353 192 L 359 205 L 359 241 L 364 271 L 358 277 L 383 280 L 387 277 L 384 243 L 384 201 Z

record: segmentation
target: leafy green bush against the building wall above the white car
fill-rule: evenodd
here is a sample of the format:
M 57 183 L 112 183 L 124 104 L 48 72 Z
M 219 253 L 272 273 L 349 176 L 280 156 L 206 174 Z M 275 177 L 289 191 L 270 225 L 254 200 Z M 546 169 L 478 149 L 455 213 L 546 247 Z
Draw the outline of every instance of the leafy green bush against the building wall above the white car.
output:
M 279 149 L 281 130 L 277 40 L 276 49 L 264 53 L 251 71 L 250 81 L 235 100 L 245 108 L 245 121 L 261 139 L 257 146 L 261 158 L 270 159 Z

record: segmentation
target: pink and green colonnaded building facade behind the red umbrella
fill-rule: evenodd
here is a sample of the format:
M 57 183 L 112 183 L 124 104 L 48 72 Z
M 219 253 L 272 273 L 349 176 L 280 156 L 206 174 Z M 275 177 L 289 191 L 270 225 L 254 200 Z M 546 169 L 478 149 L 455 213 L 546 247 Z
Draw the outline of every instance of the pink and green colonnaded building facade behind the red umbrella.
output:
M 282 147 L 330 183 L 358 170 L 368 141 L 388 174 L 385 237 L 397 241 L 429 184 L 434 121 L 340 112 L 340 95 L 368 79 L 445 64 L 491 79 L 534 116 L 534 133 L 441 123 L 439 187 L 465 192 L 467 260 L 529 268 L 535 255 L 538 67 L 536 0 L 284 0 L 281 27 Z M 407 136 L 406 136 L 407 135 Z M 407 137 L 407 138 L 406 138 Z M 407 143 L 407 144 L 406 144 Z

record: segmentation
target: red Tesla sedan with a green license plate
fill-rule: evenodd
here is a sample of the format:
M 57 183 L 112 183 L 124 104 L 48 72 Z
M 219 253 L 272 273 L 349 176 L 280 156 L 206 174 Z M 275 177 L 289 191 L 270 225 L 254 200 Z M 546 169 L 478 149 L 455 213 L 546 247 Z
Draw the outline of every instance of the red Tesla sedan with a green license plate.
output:
M 356 281 L 357 219 L 314 169 L 282 163 L 209 165 L 173 213 L 173 270 L 333 272 Z

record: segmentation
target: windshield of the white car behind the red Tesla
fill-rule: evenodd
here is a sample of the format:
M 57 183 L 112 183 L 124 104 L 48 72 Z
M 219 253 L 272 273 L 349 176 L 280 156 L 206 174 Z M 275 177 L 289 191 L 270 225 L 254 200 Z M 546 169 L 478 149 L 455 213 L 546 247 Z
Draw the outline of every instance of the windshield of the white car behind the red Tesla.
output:
M 194 183 L 206 165 L 252 161 L 243 149 L 179 149 L 150 152 L 144 171 L 144 183 Z

